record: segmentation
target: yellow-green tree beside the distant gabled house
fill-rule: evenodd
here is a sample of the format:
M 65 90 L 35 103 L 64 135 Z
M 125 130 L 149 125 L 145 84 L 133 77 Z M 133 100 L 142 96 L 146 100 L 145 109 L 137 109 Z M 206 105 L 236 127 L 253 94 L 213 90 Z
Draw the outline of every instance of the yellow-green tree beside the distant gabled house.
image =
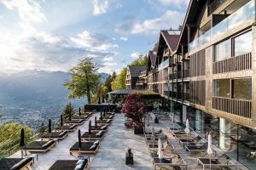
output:
M 113 90 L 126 88 L 126 85 L 125 85 L 126 71 L 127 71 L 127 68 L 123 68 L 122 71 L 115 77 L 115 79 L 112 82 Z

